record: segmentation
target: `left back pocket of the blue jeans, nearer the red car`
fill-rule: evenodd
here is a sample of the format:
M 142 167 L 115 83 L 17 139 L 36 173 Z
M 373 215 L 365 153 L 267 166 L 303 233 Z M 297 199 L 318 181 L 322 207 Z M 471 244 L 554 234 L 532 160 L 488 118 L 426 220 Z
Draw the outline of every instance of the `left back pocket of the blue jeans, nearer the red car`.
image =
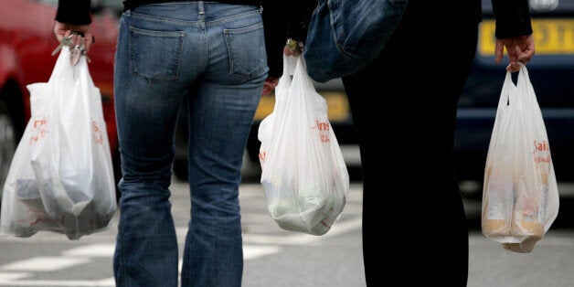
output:
M 150 82 L 176 80 L 185 35 L 130 27 L 130 72 Z

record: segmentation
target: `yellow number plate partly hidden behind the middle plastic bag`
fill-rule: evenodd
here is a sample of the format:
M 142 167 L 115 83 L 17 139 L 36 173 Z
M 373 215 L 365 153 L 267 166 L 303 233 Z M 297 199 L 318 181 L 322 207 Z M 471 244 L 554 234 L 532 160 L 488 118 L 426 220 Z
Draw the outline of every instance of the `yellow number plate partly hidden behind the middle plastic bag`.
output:
M 327 116 L 330 122 L 343 122 L 349 118 L 349 103 L 343 91 L 319 90 L 327 101 Z M 273 112 L 275 95 L 271 93 L 261 98 L 259 107 L 255 112 L 255 121 L 260 122 Z

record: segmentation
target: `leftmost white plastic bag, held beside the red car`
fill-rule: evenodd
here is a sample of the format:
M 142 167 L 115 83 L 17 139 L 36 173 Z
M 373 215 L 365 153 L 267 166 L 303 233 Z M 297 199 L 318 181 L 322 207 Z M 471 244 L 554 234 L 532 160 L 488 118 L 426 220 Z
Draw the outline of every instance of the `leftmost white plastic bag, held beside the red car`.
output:
M 106 229 L 117 207 L 112 155 L 86 58 L 72 66 L 62 48 L 48 82 L 27 89 L 31 118 L 5 181 L 0 236 Z

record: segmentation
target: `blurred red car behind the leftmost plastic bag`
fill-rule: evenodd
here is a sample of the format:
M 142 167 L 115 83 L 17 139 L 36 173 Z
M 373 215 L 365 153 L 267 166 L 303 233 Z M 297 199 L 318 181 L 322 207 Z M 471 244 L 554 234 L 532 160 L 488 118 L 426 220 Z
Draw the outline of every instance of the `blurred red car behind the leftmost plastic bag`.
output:
M 54 16 L 58 1 L 2 0 L 0 9 L 0 196 L 17 143 L 30 117 L 27 85 L 47 82 L 58 55 Z M 113 58 L 118 34 L 118 7 L 99 1 L 93 7 L 96 42 L 90 48 L 90 75 L 101 91 L 112 159 L 119 180 L 118 136 L 113 110 Z

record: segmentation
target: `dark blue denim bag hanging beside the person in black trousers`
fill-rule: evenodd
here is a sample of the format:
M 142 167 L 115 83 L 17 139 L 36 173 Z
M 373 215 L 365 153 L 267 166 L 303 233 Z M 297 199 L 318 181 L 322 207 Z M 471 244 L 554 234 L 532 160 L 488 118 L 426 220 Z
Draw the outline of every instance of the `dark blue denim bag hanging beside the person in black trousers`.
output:
M 318 82 L 341 78 L 377 58 L 407 7 L 407 0 L 319 0 L 303 55 Z

